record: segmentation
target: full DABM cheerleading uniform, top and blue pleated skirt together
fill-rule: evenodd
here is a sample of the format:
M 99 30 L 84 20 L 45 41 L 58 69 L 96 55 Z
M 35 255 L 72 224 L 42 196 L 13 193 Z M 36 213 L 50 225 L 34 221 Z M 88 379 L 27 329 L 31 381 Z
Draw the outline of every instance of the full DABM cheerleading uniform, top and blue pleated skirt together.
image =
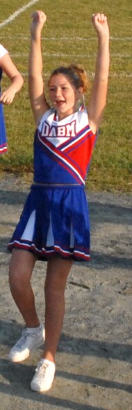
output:
M 8 249 L 38 259 L 58 254 L 90 259 L 90 222 L 84 186 L 96 136 L 86 109 L 58 121 L 48 110 L 35 132 L 34 180 Z

